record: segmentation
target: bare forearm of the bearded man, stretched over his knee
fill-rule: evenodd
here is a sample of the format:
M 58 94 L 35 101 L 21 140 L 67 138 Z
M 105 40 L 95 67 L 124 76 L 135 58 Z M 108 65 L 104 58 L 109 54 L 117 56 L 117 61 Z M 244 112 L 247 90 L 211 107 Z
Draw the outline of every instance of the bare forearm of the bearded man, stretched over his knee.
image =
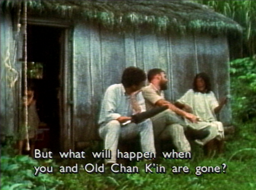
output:
M 186 111 L 183 111 L 183 110 L 179 109 L 174 104 L 172 104 L 172 103 L 170 103 L 170 102 L 168 102 L 166 100 L 161 99 L 161 100 L 156 102 L 156 105 L 157 106 L 165 106 L 165 105 L 167 105 L 170 110 L 174 111 L 178 115 L 185 117 L 186 119 L 190 120 L 193 123 L 197 122 L 197 117 L 195 115 L 193 115 L 192 113 L 188 113 Z

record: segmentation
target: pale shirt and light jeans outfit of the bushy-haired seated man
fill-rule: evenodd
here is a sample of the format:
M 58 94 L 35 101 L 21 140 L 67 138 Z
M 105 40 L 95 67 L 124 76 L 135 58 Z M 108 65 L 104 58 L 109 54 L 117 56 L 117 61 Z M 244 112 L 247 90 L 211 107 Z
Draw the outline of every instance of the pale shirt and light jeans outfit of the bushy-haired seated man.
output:
M 135 96 L 141 111 L 145 111 L 146 106 L 142 93 L 136 93 Z M 122 84 L 114 84 L 108 87 L 101 104 L 98 122 L 100 124 L 99 136 L 104 139 L 105 149 L 110 149 L 112 154 L 111 160 L 106 160 L 107 163 L 116 162 L 116 148 L 119 139 L 131 139 L 136 135 L 140 135 L 143 152 L 156 153 L 151 120 L 147 119 L 139 124 L 129 123 L 125 126 L 121 126 L 116 120 L 121 116 L 130 117 L 134 112 L 130 96 L 125 93 Z

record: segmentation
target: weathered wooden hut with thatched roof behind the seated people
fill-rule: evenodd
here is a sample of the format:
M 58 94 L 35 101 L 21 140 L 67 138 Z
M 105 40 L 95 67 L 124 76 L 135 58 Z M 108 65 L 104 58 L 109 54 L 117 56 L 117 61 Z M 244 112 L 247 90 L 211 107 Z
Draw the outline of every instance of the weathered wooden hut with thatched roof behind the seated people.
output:
M 1 1 L 1 134 L 13 135 L 23 117 L 24 65 L 41 65 L 41 77 L 30 76 L 40 119 L 50 148 L 66 150 L 98 139 L 100 100 L 127 66 L 166 70 L 172 101 L 202 71 L 217 97 L 228 94 L 230 44 L 241 31 L 186 1 Z M 231 122 L 229 106 L 220 120 Z

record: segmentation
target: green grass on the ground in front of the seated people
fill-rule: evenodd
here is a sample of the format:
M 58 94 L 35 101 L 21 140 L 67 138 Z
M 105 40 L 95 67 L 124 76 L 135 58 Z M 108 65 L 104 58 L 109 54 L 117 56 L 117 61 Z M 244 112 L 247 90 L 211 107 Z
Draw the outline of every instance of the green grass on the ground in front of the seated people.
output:
M 226 142 L 223 156 L 206 159 L 199 150 L 192 160 L 163 160 L 161 165 L 166 168 L 166 174 L 146 174 L 144 162 L 136 164 L 140 174 L 88 174 L 81 169 L 79 174 L 56 173 L 56 178 L 63 181 L 57 189 L 255 189 L 255 132 L 254 122 L 237 124 L 236 134 Z M 226 173 L 222 172 L 223 163 L 227 166 Z M 187 166 L 190 174 L 173 174 L 173 166 Z M 198 177 L 197 166 L 219 166 L 221 173 Z

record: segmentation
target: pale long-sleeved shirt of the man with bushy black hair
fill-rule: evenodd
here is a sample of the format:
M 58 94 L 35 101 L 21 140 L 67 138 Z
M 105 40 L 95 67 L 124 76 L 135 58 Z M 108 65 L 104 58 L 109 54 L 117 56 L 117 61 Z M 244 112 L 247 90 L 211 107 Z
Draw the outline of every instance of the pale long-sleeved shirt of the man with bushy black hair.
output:
M 136 93 L 136 101 L 141 111 L 146 111 L 145 100 L 142 92 Z M 134 113 L 130 104 L 130 95 L 125 93 L 123 84 L 114 84 L 107 88 L 104 99 L 101 102 L 98 124 L 116 120 L 121 116 L 130 117 Z

